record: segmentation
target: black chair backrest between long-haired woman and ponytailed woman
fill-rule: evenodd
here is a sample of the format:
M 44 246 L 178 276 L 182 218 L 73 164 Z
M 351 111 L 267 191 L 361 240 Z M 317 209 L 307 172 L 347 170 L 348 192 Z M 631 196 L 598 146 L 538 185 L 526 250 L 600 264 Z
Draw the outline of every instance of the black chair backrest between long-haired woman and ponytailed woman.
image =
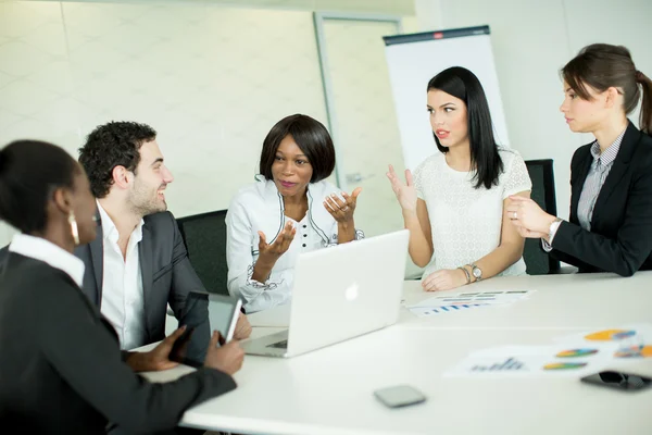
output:
M 552 160 L 526 160 L 525 165 L 532 181 L 530 197 L 546 212 L 556 216 Z M 559 260 L 553 259 L 541 249 L 541 240 L 538 238 L 525 239 L 523 260 L 527 266 L 528 275 L 546 275 L 548 273 L 556 273 L 560 270 Z

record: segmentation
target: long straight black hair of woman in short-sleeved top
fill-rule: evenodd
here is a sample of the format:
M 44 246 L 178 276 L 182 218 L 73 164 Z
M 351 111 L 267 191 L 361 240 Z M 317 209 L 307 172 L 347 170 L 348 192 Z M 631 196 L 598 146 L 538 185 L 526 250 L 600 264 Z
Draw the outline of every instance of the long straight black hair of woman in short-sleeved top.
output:
M 498 178 L 503 172 L 503 162 L 498 153 L 498 145 L 493 137 L 491 112 L 487 96 L 480 80 L 474 73 L 462 67 L 453 66 L 443 70 L 428 82 L 428 91 L 439 89 L 466 104 L 468 125 L 468 142 L 471 145 L 471 165 L 474 167 L 475 188 L 498 186 Z M 435 133 L 437 149 L 446 153 L 448 147 L 441 146 Z

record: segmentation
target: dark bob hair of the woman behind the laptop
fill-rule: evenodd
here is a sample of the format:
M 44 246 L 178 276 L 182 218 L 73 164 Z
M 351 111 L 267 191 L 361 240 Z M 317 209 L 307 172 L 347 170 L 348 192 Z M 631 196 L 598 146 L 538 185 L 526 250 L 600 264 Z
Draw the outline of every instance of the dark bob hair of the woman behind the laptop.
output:
M 272 165 L 276 158 L 276 151 L 280 141 L 288 135 L 292 136 L 313 169 L 311 183 L 327 178 L 333 173 L 335 169 L 335 147 L 328 130 L 317 120 L 308 115 L 294 114 L 277 122 L 263 141 L 260 173 L 266 179 L 274 178 Z

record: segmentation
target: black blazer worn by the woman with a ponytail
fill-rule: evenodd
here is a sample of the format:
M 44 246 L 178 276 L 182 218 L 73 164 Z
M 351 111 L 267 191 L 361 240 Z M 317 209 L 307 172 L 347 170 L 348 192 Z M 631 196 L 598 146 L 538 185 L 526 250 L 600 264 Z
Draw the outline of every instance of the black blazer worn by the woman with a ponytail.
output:
M 592 162 L 591 144 L 573 156 L 570 219 L 557 228 L 551 254 L 579 272 L 631 276 L 652 269 L 652 137 L 629 123 L 588 232 L 579 226 L 577 204 Z

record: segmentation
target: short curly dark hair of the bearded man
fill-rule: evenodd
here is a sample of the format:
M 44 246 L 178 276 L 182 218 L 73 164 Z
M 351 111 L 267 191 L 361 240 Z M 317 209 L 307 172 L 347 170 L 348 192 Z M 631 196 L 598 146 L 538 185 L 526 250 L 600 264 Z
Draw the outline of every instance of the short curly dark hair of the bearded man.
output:
M 155 138 L 156 132 L 147 124 L 114 121 L 96 127 L 79 148 L 79 163 L 86 170 L 92 195 L 96 198 L 109 195 L 115 166 L 136 173 L 140 147 Z

